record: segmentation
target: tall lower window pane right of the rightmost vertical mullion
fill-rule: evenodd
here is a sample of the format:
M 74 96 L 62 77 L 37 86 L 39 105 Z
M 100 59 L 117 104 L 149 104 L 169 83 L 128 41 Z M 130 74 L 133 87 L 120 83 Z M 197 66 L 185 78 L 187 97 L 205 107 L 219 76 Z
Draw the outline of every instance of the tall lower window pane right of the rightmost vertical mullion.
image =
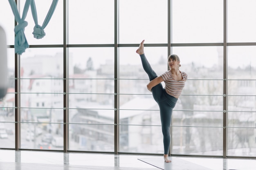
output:
M 255 156 L 255 46 L 230 46 L 228 50 L 228 155 Z

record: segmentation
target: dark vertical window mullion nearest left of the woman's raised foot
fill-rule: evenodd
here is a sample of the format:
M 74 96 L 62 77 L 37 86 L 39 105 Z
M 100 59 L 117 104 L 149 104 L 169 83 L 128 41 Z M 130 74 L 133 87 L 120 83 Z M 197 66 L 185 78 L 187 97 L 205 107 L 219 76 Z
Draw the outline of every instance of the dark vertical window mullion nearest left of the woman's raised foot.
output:
M 114 118 L 114 153 L 119 152 L 119 0 L 115 0 L 115 118 Z

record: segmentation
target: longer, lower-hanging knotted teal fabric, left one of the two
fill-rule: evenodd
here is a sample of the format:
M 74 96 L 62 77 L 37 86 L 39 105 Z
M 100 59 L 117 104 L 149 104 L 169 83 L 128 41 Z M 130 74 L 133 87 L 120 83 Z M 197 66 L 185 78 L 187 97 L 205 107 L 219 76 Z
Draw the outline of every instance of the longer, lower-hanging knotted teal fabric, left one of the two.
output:
M 15 53 L 17 54 L 22 54 L 23 52 L 25 52 L 27 48 L 29 48 L 29 44 L 27 43 L 27 39 L 25 37 L 24 31 L 25 31 L 25 27 L 27 26 L 27 21 L 25 21 L 25 18 L 27 16 L 27 11 L 30 6 L 30 1 L 31 0 L 26 0 L 23 13 L 22 13 L 22 18 L 20 18 L 20 14 L 18 12 L 16 3 L 13 0 L 9 0 L 15 20 L 16 22 L 18 22 L 18 24 L 14 27 L 14 32 L 16 35 L 14 48 L 15 48 Z

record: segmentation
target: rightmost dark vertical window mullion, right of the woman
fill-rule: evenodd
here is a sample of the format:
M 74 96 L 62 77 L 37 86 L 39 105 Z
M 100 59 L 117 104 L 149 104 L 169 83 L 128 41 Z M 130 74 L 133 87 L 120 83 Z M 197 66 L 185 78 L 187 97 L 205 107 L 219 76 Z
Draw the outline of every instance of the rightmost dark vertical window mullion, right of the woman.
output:
M 223 158 L 227 157 L 227 0 L 223 0 Z

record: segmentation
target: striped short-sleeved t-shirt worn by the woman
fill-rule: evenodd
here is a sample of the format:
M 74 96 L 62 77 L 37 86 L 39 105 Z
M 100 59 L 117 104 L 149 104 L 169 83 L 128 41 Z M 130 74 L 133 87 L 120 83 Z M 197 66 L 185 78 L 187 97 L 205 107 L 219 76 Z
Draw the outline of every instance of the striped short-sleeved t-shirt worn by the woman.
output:
M 171 70 L 166 71 L 161 75 L 161 77 L 164 79 L 166 93 L 176 98 L 180 97 L 182 89 L 185 86 L 186 79 L 188 78 L 188 75 L 185 72 L 180 72 L 183 77 L 183 79 L 180 81 L 173 79 Z

